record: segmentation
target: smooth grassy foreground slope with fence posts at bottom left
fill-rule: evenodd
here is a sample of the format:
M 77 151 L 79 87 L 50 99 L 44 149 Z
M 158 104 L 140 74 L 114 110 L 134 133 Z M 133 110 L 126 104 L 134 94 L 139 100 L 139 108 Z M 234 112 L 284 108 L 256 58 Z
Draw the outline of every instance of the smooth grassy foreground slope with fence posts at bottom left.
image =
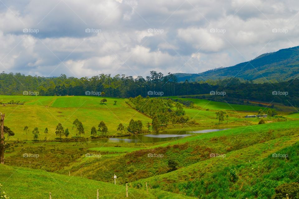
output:
M 6 165 L 0 165 L 0 170 L 2 188 L 10 198 L 49 198 L 51 192 L 53 199 L 94 199 L 97 197 L 97 189 L 100 198 L 126 198 L 123 185 Z M 130 185 L 128 194 L 129 198 L 191 198 L 157 189 L 149 190 L 149 194 L 146 194 L 145 189 L 137 190 Z

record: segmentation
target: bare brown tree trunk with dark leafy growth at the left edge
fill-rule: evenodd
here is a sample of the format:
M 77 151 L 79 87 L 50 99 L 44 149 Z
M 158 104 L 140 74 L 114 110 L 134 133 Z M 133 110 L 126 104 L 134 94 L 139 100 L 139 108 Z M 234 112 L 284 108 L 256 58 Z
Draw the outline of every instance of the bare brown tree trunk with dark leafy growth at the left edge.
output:
M 4 151 L 7 141 L 9 140 L 10 136 L 14 136 L 15 133 L 10 130 L 7 126 L 4 126 L 4 118 L 5 114 L 0 112 L 0 163 L 4 164 Z M 7 134 L 7 138 L 5 139 L 5 134 Z

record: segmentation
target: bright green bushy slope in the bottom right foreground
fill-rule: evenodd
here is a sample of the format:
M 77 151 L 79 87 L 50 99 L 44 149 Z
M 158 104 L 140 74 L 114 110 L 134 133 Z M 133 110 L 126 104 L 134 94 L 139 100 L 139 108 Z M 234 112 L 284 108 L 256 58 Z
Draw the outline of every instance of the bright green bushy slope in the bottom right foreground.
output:
M 177 193 L 198 198 L 285 198 L 286 193 L 296 198 L 290 184 L 298 182 L 298 134 L 291 130 L 285 135 L 235 151 L 217 151 L 219 155 L 214 158 L 140 179 L 135 186 L 150 182 L 153 187 L 168 191 L 178 187 Z M 288 188 L 280 192 L 281 186 Z M 280 197 L 273 197 L 274 194 Z

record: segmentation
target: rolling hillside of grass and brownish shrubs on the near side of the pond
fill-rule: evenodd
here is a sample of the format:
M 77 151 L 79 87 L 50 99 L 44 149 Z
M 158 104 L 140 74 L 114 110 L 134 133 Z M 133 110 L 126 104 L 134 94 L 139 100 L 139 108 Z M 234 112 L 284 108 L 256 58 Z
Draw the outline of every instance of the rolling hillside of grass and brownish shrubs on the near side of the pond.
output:
M 7 153 L 6 157 L 12 159 L 19 157 L 19 160 L 39 162 L 41 165 L 38 167 L 35 163 L 31 163 L 31 168 L 43 170 L 51 169 L 56 163 L 57 166 L 63 168 L 57 168 L 55 172 L 64 174 L 63 176 L 57 175 L 57 177 L 74 179 L 74 182 L 84 179 L 82 181 L 87 183 L 89 181 L 86 178 L 89 178 L 111 183 L 113 174 L 118 176 L 118 184 L 123 185 L 129 182 L 132 187 L 138 188 L 137 190 L 145 190 L 145 182 L 150 182 L 154 188 L 151 190 L 154 197 L 157 197 L 154 193 L 160 193 L 162 189 L 199 198 L 270 198 L 278 186 L 298 182 L 298 143 L 298 121 L 292 120 L 199 133 L 191 137 L 147 146 L 143 146 L 142 143 L 137 145 L 119 143 L 118 147 L 113 146 L 115 143 L 90 143 L 84 145 L 86 149 L 80 149 L 83 144 L 22 143 L 12 146 L 15 152 L 11 153 L 14 155 Z M 45 147 L 44 152 L 40 149 L 42 146 Z M 21 158 L 24 152 L 38 153 L 40 157 Z M 85 157 L 85 153 L 101 153 L 102 157 L 88 158 Z M 288 154 L 288 157 L 273 158 L 273 153 Z M 51 154 L 55 154 L 55 158 Z M 75 154 L 78 156 L 74 156 Z M 148 154 L 163 154 L 163 157 L 154 158 L 149 157 Z M 211 157 L 211 154 L 222 156 Z M 67 160 L 68 164 L 57 163 Z M 171 171 L 169 160 L 176 162 L 177 170 Z M 29 166 L 28 163 L 17 164 L 14 161 L 8 161 L 7 164 L 18 166 L 13 169 L 8 167 L 9 172 L 4 169 L 4 177 L 12 174 L 15 176 L 15 178 L 10 178 L 11 181 L 7 181 L 0 175 L 0 182 L 4 185 L 4 189 L 6 187 L 4 182 L 9 187 L 17 182 L 12 188 L 5 189 L 8 195 L 10 195 L 10 189 L 17 190 L 17 192 L 25 189 L 17 188 L 21 186 L 19 182 L 30 181 L 33 184 L 45 186 L 44 182 L 49 182 L 49 179 L 41 178 L 40 174 L 43 177 L 51 175 L 51 178 L 53 176 L 56 178 L 56 175 L 52 176 L 52 173 L 45 175 L 44 172 L 35 169 L 23 169 L 22 167 Z M 20 172 L 16 170 L 17 168 Z M 24 173 L 21 173 L 23 171 Z M 25 171 L 34 171 L 34 175 L 38 177 L 28 175 Z M 71 177 L 65 176 L 69 171 Z M 81 171 L 83 178 L 80 178 Z M 236 179 L 232 179 L 234 175 Z M 16 179 L 17 177 L 19 179 Z M 62 182 L 56 181 L 64 185 L 63 180 Z M 69 183 L 72 187 L 73 182 Z M 97 185 L 96 181 L 92 183 Z M 84 187 L 81 184 L 78 186 Z M 48 187 L 41 189 L 40 194 L 49 192 L 49 187 L 52 187 L 51 183 Z M 90 187 L 92 190 L 97 189 L 97 187 Z M 56 190 L 55 187 L 53 189 Z M 68 191 L 71 188 L 66 186 L 65 189 Z M 174 198 L 178 197 L 174 196 Z

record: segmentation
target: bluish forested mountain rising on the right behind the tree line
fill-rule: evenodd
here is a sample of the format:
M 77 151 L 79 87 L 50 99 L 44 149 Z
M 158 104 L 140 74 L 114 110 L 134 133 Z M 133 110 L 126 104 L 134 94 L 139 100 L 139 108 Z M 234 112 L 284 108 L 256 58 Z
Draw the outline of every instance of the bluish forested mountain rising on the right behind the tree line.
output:
M 244 80 L 258 82 L 287 81 L 297 77 L 299 73 L 298 46 L 282 49 L 277 52 L 266 53 L 257 58 L 237 64 L 235 66 L 208 70 L 199 74 L 175 74 L 178 81 L 215 80 L 229 77 L 238 77 Z M 203 78 L 203 79 L 202 79 Z M 265 80 L 267 79 L 267 80 Z

